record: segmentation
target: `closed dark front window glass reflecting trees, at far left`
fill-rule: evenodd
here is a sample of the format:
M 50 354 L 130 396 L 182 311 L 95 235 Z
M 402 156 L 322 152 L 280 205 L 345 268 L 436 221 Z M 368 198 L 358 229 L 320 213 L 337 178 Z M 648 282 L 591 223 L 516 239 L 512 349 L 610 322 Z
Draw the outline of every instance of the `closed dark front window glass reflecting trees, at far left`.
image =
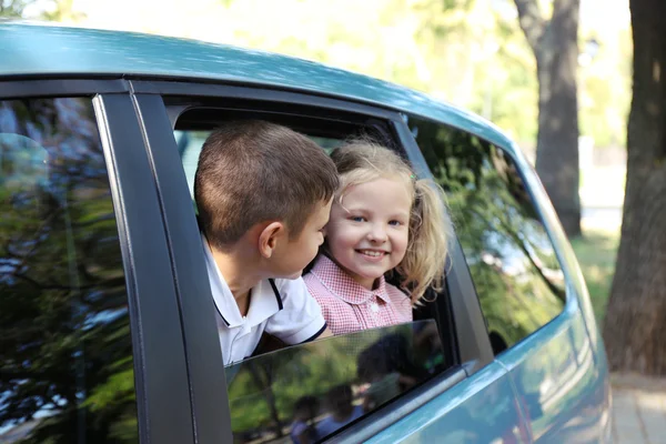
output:
M 90 99 L 0 101 L 0 442 L 138 442 L 125 280 Z

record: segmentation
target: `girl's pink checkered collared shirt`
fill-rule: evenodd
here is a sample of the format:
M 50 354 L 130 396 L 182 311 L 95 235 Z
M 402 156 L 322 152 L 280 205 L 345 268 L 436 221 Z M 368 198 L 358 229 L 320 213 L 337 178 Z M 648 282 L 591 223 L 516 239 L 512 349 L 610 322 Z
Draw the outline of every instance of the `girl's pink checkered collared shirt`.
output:
M 329 258 L 320 255 L 303 280 L 322 307 L 333 334 L 412 321 L 410 297 L 387 284 L 384 276 L 376 290 L 371 291 L 356 283 Z

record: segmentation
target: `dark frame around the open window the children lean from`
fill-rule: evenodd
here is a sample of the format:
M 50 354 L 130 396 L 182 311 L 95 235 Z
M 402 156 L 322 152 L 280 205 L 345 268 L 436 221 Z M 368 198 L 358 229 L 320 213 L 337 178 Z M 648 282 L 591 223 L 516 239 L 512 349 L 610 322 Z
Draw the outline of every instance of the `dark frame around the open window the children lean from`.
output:
M 403 117 L 394 110 L 351 100 L 329 98 L 323 94 L 284 91 L 262 85 L 241 87 L 150 79 L 131 80 L 130 85 L 138 111 L 145 119 L 143 122 L 144 138 L 149 155 L 153 162 L 160 195 L 169 196 L 169 199 L 161 199 L 161 203 L 163 205 L 164 223 L 168 226 L 167 231 L 170 236 L 171 254 L 172 258 L 176 258 L 174 273 L 180 287 L 179 291 L 182 294 L 193 294 L 191 292 L 199 289 L 201 292 L 196 294 L 201 294 L 204 296 L 203 299 L 209 300 L 209 302 L 193 302 L 192 300 L 195 300 L 195 297 L 184 297 L 182 300 L 185 347 L 188 351 L 191 347 L 198 350 L 196 353 L 188 352 L 188 363 L 191 371 L 190 383 L 193 387 L 193 412 L 195 414 L 196 434 L 201 443 L 220 442 L 213 440 L 215 431 L 226 427 L 229 432 L 228 440 L 231 440 L 230 415 L 229 413 L 220 415 L 224 408 L 229 410 L 225 383 L 223 382 L 222 360 L 220 356 L 219 361 L 212 362 L 212 356 L 216 356 L 220 352 L 212 350 L 213 344 L 211 344 L 210 337 L 208 340 L 203 337 L 205 332 L 211 331 L 215 323 L 212 311 L 212 296 L 210 289 L 201 290 L 201 282 L 202 280 L 203 282 L 208 282 L 208 276 L 204 272 L 203 254 L 192 249 L 192 245 L 196 245 L 199 242 L 199 229 L 194 212 L 183 211 L 183 209 L 192 209 L 192 200 L 172 133 L 175 117 L 182 113 L 186 107 L 180 111 L 170 112 L 164 105 L 163 97 L 190 97 L 193 101 L 198 98 L 205 98 L 206 100 L 220 100 L 221 103 L 223 103 L 224 99 L 243 99 L 266 103 L 281 103 L 284 105 L 300 104 L 331 111 L 357 113 L 379 119 L 386 122 L 395 131 L 395 143 L 414 162 L 417 172 L 420 174 L 430 174 L 430 170 L 427 170 L 427 167 L 425 170 L 423 169 L 424 163 L 421 152 L 415 142 L 410 140 L 411 134 L 407 137 L 407 133 L 405 133 L 408 129 L 404 124 Z M 178 235 L 171 235 L 171 233 L 178 233 Z M 457 244 L 457 242 L 454 243 Z M 390 404 L 389 408 L 379 408 L 369 414 L 357 424 L 333 436 L 331 442 L 357 442 L 367 438 L 492 362 L 493 356 L 485 326 L 483 334 L 480 331 L 480 325 L 485 324 L 476 293 L 471 285 L 471 276 L 468 275 L 466 263 L 464 268 L 456 266 L 456 261 L 460 260 L 461 252 L 460 246 L 453 249 L 453 260 L 448 279 L 450 290 L 452 290 L 453 294 L 460 292 L 457 299 L 461 300 L 460 303 L 452 304 L 454 327 L 460 341 L 457 349 L 463 360 L 461 365 L 434 376 L 423 386 L 396 398 Z M 196 280 L 200 280 L 200 282 L 193 282 Z M 209 311 L 206 312 L 205 310 Z M 203 324 L 206 325 L 204 326 Z M 196 339 L 204 340 L 205 350 L 210 349 L 211 354 L 201 352 L 202 346 L 198 344 Z M 214 339 L 216 340 L 216 337 Z M 215 344 L 215 346 L 219 351 L 219 344 Z M 215 379 L 216 381 L 214 381 Z M 215 403 L 219 401 L 214 401 L 215 396 L 211 396 L 210 393 L 200 396 L 206 386 L 212 384 L 219 387 L 220 382 L 223 382 L 223 396 L 218 394 L 216 400 L 221 401 L 224 398 L 223 406 L 216 405 Z

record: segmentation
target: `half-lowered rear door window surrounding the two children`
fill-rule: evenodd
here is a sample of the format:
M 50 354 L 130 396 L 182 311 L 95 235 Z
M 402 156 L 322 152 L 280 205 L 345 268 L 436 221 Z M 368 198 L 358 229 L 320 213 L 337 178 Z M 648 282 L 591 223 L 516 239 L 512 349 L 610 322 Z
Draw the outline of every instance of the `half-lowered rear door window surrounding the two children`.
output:
M 272 103 L 271 113 L 258 104 L 235 104 L 242 111 L 236 115 L 229 108 L 215 109 L 212 100 L 205 107 L 189 107 L 186 98 L 165 102 L 173 102 L 172 115 L 188 108 L 171 124 L 192 199 L 202 145 L 223 122 L 250 118 L 283 124 L 327 153 L 356 135 L 369 135 L 400 151 L 386 122 L 369 123 L 359 114 L 329 120 L 317 114 L 326 114 L 325 110 L 314 107 L 281 113 Z M 431 291 L 414 309 L 412 323 L 295 346 L 264 332 L 252 357 L 226 367 L 234 441 L 314 443 L 389 402 L 400 402 L 412 387 L 452 369 L 457 351 L 445 291 Z M 333 414 L 335 405 L 339 412 Z

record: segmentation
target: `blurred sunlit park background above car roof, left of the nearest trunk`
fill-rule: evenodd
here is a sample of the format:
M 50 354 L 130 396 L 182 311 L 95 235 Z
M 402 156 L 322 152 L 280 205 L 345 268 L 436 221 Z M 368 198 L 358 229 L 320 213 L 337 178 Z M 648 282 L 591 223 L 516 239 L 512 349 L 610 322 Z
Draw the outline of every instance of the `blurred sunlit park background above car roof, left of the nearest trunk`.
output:
M 603 324 L 627 164 L 628 0 L 0 0 L 0 16 L 295 56 L 483 115 L 535 164 Z

